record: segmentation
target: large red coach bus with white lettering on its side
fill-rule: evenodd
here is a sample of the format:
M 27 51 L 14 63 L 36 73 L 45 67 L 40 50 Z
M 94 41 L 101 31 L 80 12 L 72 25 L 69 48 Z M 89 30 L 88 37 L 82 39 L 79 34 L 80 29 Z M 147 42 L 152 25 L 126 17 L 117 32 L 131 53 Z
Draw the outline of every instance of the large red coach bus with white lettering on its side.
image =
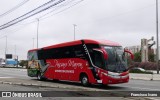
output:
M 77 40 L 28 51 L 28 76 L 89 84 L 129 81 L 125 52 L 111 41 Z

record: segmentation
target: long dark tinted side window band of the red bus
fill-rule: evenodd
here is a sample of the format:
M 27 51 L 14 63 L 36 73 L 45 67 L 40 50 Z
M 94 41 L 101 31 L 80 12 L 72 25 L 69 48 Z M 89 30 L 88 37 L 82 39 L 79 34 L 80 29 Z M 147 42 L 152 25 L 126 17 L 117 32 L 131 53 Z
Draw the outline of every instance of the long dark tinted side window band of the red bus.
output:
M 82 45 L 40 50 L 39 59 L 82 58 L 85 59 Z

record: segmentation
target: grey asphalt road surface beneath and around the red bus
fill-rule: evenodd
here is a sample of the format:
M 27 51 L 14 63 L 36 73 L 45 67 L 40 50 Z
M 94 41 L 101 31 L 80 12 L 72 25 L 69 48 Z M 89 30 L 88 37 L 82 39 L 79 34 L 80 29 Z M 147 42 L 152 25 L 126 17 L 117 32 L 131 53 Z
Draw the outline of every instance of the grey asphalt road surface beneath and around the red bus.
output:
M 90 87 L 82 87 L 80 83 L 72 83 L 72 82 L 53 82 L 53 81 L 37 81 L 36 78 L 30 78 L 27 76 L 26 69 L 13 69 L 13 68 L 0 68 L 0 81 L 3 79 L 9 79 L 12 81 L 19 82 L 20 80 L 23 80 L 23 82 L 31 82 L 33 84 L 39 83 L 41 85 L 58 85 L 57 87 L 37 87 L 37 86 L 18 86 L 18 85 L 5 85 L 0 84 L 0 90 L 26 90 L 26 91 L 59 91 L 59 90 L 79 90 L 79 89 L 89 89 L 93 91 L 160 91 L 159 81 L 147 81 L 147 80 L 130 80 L 129 83 L 125 84 L 114 84 L 114 85 L 108 85 L 106 87 L 102 87 L 100 85 L 92 85 Z M 69 87 L 67 89 L 63 87 Z M 72 89 L 74 88 L 74 89 Z M 81 95 L 81 94 L 79 94 Z M 76 98 L 78 99 L 78 98 Z M 86 100 L 90 100 L 91 98 L 85 98 Z M 92 98 L 95 99 L 95 98 Z M 106 98 L 101 98 L 108 100 Z M 112 98 L 113 100 L 119 100 L 124 98 Z M 126 99 L 126 98 L 125 98 Z M 127 98 L 128 99 L 128 98 Z M 160 99 L 160 98 L 158 98 Z M 157 100 L 158 100 L 157 99 Z M 81 99 L 80 99 L 81 100 Z M 96 100 L 96 99 L 95 99 Z

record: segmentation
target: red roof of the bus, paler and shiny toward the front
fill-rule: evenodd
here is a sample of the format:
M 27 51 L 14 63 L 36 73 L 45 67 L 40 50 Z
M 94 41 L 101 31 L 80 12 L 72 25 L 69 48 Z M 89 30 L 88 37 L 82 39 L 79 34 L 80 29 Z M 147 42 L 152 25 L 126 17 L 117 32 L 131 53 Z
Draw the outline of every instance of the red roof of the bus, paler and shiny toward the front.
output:
M 108 46 L 121 46 L 120 44 L 116 42 L 112 42 L 109 40 L 90 40 L 90 39 L 83 39 L 85 44 L 100 44 L 100 45 L 108 45 Z M 47 47 L 43 47 L 43 49 L 50 49 L 50 48 L 59 48 L 59 47 L 65 47 L 65 46 L 72 46 L 72 45 L 79 45 L 82 44 L 82 40 L 76 40 L 71 42 L 65 42 L 60 44 L 55 44 Z M 41 49 L 41 48 L 40 48 Z M 37 51 L 38 49 L 32 49 L 31 51 Z

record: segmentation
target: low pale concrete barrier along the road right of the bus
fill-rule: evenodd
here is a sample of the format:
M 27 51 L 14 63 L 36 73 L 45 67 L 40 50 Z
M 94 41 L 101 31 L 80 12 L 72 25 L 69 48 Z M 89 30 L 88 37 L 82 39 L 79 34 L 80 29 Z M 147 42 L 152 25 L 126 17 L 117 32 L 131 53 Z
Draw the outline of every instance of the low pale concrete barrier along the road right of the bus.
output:
M 137 74 L 137 73 L 130 73 L 130 79 L 160 80 L 160 74 Z

